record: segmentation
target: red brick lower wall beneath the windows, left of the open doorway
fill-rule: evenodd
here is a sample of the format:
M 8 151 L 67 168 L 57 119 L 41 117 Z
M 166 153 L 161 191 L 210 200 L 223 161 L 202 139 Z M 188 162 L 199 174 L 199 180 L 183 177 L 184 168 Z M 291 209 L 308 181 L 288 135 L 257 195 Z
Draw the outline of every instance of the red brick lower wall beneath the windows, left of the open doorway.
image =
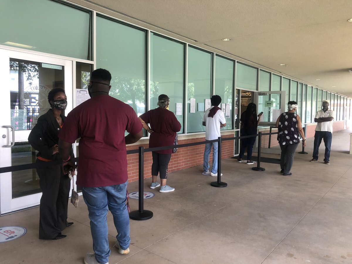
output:
M 234 137 L 234 132 L 225 132 L 221 134 L 221 137 L 229 138 Z M 129 145 L 127 150 L 138 149 L 139 146 L 149 147 L 149 140 L 141 140 L 142 144 Z M 205 141 L 205 134 L 195 136 L 179 136 L 178 144 L 187 144 L 195 142 Z M 205 145 L 196 145 L 190 147 L 179 148 L 176 153 L 171 155 L 169 163 L 169 172 L 183 170 L 203 164 L 203 153 Z M 233 157 L 234 141 L 228 140 L 222 142 L 221 159 Z M 209 163 L 213 160 L 213 153 L 210 153 Z M 151 166 L 153 163 L 151 152 L 144 153 L 144 178 L 151 177 Z M 138 153 L 127 155 L 127 171 L 128 171 L 128 182 L 138 181 Z

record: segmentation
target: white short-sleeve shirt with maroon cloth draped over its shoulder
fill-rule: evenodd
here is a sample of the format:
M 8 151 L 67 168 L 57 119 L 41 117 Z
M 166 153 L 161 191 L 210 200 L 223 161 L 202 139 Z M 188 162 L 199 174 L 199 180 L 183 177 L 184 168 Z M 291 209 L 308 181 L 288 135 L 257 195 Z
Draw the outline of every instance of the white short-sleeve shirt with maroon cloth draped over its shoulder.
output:
M 221 137 L 220 134 L 220 123 L 225 124 L 226 119 L 224 112 L 221 110 L 216 111 L 214 117 L 208 117 L 210 109 L 212 109 L 214 106 L 208 108 L 203 115 L 203 122 L 205 122 L 206 129 L 205 129 L 205 139 L 206 140 L 214 140 L 218 139 L 218 137 Z

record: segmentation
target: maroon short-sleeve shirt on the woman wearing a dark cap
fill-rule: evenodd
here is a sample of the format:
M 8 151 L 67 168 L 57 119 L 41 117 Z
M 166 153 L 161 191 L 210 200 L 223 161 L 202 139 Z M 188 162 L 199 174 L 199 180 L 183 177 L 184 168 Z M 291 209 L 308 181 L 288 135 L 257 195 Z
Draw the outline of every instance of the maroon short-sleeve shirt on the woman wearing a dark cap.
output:
M 176 132 L 181 130 L 181 124 L 174 113 L 166 108 L 158 107 L 142 114 L 140 118 L 150 124 L 150 128 L 154 131 L 150 134 L 149 147 L 174 145 Z M 157 150 L 155 152 L 171 154 L 172 149 Z

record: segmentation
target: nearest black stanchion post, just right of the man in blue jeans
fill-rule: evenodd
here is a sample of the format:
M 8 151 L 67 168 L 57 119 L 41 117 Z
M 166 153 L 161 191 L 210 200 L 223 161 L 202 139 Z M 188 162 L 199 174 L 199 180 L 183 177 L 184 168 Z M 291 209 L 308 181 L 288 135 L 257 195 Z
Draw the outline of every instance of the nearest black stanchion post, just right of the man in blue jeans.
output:
M 144 200 L 144 147 L 139 147 L 138 152 L 138 210 L 130 212 L 132 220 L 148 220 L 153 217 L 153 212 L 143 209 Z

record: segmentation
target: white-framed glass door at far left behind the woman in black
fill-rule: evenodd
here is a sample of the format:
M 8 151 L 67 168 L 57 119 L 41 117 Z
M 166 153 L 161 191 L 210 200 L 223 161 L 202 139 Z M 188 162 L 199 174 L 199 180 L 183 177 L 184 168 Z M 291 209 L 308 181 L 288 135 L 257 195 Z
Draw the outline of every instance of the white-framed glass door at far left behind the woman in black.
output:
M 50 109 L 48 93 L 66 91 L 68 113 L 73 107 L 73 62 L 0 49 L 0 167 L 34 163 L 36 151 L 28 136 L 38 117 Z M 38 205 L 41 197 L 35 169 L 0 175 L 0 213 Z

